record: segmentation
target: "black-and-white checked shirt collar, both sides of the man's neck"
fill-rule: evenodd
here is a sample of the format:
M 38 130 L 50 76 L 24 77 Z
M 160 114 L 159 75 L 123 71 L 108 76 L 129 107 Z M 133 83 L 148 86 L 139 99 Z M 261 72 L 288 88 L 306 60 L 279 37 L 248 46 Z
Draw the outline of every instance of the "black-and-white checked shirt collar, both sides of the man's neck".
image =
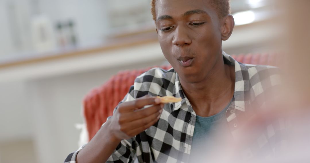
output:
M 237 109 L 239 111 L 245 111 L 245 107 L 246 107 L 245 92 L 249 90 L 248 89 L 248 86 L 249 86 L 248 85 L 248 82 L 249 82 L 248 72 L 243 64 L 237 62 L 235 59 L 233 59 L 231 56 L 229 56 L 225 52 L 223 52 L 223 57 L 224 57 L 224 61 L 226 64 L 235 66 L 235 77 L 236 77 L 235 92 L 234 92 L 234 99 L 230 107 Z M 191 106 L 188 98 L 185 96 L 182 90 L 179 76 L 177 73 L 175 75 L 175 85 L 173 89 L 173 96 L 175 96 L 176 98 L 180 97 L 182 98 L 182 100 L 180 102 L 171 104 L 172 111 L 179 110 L 180 107 L 184 103 L 186 103 L 188 106 Z

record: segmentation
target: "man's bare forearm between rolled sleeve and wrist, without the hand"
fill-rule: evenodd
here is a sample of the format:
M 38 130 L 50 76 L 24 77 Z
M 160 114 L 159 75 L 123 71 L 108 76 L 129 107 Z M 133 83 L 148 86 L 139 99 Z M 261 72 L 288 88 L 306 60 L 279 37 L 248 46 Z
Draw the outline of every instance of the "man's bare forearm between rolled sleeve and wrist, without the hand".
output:
M 114 139 L 108 132 L 107 121 L 91 141 L 78 153 L 77 163 L 103 163 L 112 155 L 121 140 Z

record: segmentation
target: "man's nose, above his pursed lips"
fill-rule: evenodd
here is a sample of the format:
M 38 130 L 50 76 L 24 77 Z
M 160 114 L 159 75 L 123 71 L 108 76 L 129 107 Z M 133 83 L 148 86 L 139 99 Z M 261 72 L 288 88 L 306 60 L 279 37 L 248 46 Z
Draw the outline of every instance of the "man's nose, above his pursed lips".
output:
M 172 44 L 177 46 L 185 46 L 192 43 L 192 40 L 188 36 L 188 31 L 186 27 L 180 25 L 175 29 L 175 35 L 172 40 Z

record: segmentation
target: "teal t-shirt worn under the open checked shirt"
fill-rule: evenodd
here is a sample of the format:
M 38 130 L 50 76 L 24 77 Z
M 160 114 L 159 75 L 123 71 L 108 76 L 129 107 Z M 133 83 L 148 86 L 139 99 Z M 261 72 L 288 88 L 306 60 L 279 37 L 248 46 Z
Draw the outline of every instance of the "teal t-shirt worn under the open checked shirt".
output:
M 218 114 L 212 115 L 210 117 L 201 117 L 196 115 L 196 123 L 193 134 L 193 141 L 191 147 L 191 158 L 197 157 L 201 150 L 208 151 L 212 150 L 220 143 L 216 134 L 230 134 L 227 119 L 225 113 L 230 106 L 232 100 L 228 105 Z M 199 154 L 199 155 L 200 155 Z

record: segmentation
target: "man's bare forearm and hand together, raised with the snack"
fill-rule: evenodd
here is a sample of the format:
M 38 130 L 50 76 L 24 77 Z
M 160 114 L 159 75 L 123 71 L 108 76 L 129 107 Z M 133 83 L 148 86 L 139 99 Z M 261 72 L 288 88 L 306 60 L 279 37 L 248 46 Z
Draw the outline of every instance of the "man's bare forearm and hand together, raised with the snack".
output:
M 147 105 L 151 107 L 144 108 Z M 106 162 L 121 140 L 136 136 L 156 123 L 163 107 L 159 98 L 150 95 L 121 103 L 113 116 L 78 153 L 76 161 Z

